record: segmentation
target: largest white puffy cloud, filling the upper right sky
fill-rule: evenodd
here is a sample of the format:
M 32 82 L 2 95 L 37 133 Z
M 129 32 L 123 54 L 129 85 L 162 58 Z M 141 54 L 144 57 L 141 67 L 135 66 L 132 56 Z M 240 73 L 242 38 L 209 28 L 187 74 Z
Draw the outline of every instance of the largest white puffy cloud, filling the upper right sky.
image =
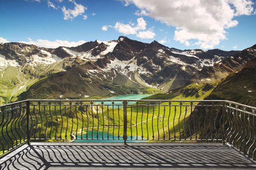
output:
M 174 39 L 186 45 L 196 40 L 201 48 L 213 48 L 226 39 L 226 29 L 238 25 L 235 16 L 254 13 L 252 0 L 122 0 L 146 15 L 176 28 Z

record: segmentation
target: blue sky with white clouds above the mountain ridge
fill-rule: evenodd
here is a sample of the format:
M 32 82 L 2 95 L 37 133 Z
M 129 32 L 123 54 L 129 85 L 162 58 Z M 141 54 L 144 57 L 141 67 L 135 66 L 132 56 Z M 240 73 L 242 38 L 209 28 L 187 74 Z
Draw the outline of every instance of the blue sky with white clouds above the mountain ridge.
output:
M 255 2 L 251 0 L 247 0 L 251 3 L 245 4 L 244 9 L 238 7 L 241 4 L 229 4 L 233 12 L 226 10 L 226 4 L 222 4 L 225 13 L 214 13 L 220 13 L 222 18 L 229 15 L 230 17 L 218 21 L 211 21 L 210 15 L 204 14 L 207 13 L 205 10 L 209 9 L 208 4 L 183 4 L 182 7 L 185 6 L 184 9 L 188 9 L 189 13 L 185 10 L 181 13 L 175 11 L 181 7 L 177 5 L 177 0 L 159 0 L 168 3 L 166 6 L 158 6 L 154 0 L 138 1 L 0 0 L 0 38 L 2 42 L 27 42 L 46 47 L 58 45 L 56 40 L 77 45 L 95 39 L 113 40 L 121 35 L 146 43 L 156 40 L 168 47 L 182 50 L 243 50 L 256 44 L 256 7 Z M 234 1 L 243 3 L 242 0 Z M 150 9 L 150 6 L 155 6 L 155 10 Z M 176 6 L 175 9 L 173 6 Z M 204 11 L 202 15 L 198 14 L 200 10 Z M 190 15 L 195 18 L 189 18 Z M 200 22 L 195 23 L 198 20 Z M 204 20 L 206 23 L 201 25 Z M 200 32 L 201 29 L 204 34 Z M 40 43 L 38 40 L 45 41 Z M 44 44 L 47 42 L 55 44 L 47 46 Z

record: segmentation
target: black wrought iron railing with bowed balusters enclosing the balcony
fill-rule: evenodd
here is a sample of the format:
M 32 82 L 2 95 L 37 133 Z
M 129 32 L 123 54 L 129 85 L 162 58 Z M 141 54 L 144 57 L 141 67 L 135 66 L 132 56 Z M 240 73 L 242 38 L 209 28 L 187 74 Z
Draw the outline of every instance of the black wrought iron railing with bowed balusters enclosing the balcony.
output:
M 0 106 L 0 155 L 33 141 L 202 141 L 256 159 L 255 110 L 231 101 L 20 101 Z

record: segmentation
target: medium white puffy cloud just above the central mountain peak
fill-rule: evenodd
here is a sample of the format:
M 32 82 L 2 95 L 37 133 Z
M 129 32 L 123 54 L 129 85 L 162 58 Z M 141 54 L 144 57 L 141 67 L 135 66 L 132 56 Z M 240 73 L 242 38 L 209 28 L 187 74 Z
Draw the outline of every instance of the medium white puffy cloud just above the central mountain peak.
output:
M 106 25 L 104 26 L 101 29 L 104 31 L 107 31 L 109 26 L 108 27 L 106 27 Z M 152 29 L 146 30 L 147 22 L 142 17 L 137 19 L 137 25 L 131 22 L 129 24 L 123 24 L 121 22 L 117 22 L 114 26 L 114 29 L 123 34 L 136 34 L 136 36 L 139 38 L 149 39 L 149 38 L 155 37 L 155 33 L 152 31 Z

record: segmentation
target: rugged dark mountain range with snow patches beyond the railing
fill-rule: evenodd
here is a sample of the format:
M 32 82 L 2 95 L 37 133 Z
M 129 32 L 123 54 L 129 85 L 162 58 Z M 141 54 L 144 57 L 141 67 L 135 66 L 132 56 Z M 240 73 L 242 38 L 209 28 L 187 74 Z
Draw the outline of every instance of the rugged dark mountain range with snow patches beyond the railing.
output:
M 122 36 L 56 49 L 5 43 L 0 44 L 0 103 L 138 93 L 166 98 L 177 89 L 199 98 L 227 76 L 255 69 L 255 59 L 256 45 L 242 51 L 178 50 Z M 248 93 L 255 94 L 255 83 L 251 88 Z

